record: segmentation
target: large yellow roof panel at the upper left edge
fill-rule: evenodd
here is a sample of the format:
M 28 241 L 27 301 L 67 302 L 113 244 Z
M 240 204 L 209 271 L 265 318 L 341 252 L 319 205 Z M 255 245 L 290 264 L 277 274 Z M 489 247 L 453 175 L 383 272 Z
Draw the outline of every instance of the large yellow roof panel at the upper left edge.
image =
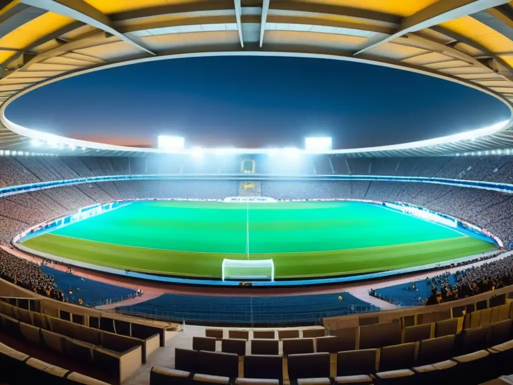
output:
M 0 38 L 0 47 L 23 49 L 73 22 L 70 17 L 46 12 Z

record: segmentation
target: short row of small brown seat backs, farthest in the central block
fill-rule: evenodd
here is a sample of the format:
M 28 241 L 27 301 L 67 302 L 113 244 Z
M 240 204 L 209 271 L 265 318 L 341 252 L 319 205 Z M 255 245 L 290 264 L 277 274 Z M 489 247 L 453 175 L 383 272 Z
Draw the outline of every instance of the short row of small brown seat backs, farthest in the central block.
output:
M 228 338 L 234 339 L 275 339 L 278 334 L 278 339 L 287 339 L 287 338 L 316 338 L 316 337 L 324 337 L 326 335 L 326 329 L 324 328 L 315 328 L 315 329 L 283 329 L 283 330 L 240 330 L 233 329 L 228 330 Z M 224 338 L 224 330 L 223 329 L 206 329 L 205 337 L 212 337 L 216 339 Z

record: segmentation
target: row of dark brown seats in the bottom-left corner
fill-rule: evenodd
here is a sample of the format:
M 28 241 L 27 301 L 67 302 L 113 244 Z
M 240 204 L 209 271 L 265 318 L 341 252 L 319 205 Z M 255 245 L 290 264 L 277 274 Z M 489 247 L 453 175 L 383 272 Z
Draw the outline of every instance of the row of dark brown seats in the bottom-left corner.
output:
M 55 385 L 108 385 L 106 382 L 56 367 L 0 343 L 0 382 Z M 8 368 L 8 370 L 4 370 Z

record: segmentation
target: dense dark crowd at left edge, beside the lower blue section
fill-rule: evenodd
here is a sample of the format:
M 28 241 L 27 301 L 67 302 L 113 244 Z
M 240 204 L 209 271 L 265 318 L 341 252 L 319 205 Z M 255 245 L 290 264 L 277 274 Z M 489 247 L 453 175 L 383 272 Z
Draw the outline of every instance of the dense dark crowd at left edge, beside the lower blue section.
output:
M 53 277 L 43 273 L 39 264 L 18 258 L 0 249 L 0 277 L 42 296 L 64 301 L 63 292 Z

